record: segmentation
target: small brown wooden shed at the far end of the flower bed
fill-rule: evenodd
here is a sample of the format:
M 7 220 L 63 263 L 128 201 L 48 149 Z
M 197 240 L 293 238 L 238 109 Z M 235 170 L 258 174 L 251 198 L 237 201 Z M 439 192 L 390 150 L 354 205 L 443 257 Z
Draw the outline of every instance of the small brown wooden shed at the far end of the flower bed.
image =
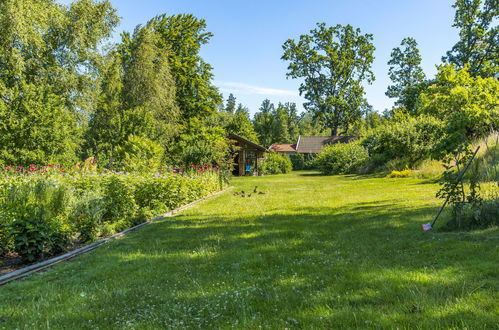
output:
M 229 134 L 229 139 L 233 141 L 236 149 L 232 174 L 260 175 L 260 165 L 267 149 L 236 134 Z

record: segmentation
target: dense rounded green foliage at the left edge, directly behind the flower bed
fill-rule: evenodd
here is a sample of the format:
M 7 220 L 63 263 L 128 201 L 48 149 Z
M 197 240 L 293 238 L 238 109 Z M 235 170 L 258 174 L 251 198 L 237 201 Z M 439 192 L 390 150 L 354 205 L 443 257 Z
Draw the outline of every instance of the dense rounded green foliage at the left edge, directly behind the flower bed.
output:
M 5 164 L 74 163 L 80 143 L 77 120 L 62 97 L 20 83 L 0 100 L 0 159 Z

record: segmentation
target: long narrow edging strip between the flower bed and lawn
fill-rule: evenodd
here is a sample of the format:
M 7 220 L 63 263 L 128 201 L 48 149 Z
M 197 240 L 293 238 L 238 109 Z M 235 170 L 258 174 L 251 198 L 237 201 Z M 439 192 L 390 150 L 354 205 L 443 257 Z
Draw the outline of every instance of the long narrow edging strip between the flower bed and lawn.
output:
M 124 236 L 126 233 L 128 232 L 131 232 L 131 231 L 134 231 L 136 229 L 139 229 L 141 227 L 144 227 L 152 222 L 155 222 L 157 220 L 160 220 L 160 219 L 163 219 L 163 218 L 168 218 L 168 217 L 171 217 L 175 214 L 177 214 L 178 212 L 180 211 L 183 211 L 199 202 L 202 202 L 208 198 L 211 198 L 211 197 L 215 197 L 217 195 L 220 195 L 230 189 L 232 189 L 233 187 L 230 186 L 230 187 L 227 187 L 223 190 L 220 190 L 220 191 L 217 191 L 216 193 L 213 193 L 211 195 L 208 195 L 206 197 L 203 197 L 203 198 L 200 198 L 200 199 L 197 199 L 193 202 L 190 202 L 189 204 L 185 204 L 179 208 L 176 208 L 174 210 L 171 210 L 163 215 L 159 215 L 157 217 L 154 217 L 152 218 L 151 220 L 148 220 L 146 222 L 143 222 L 141 224 L 138 224 L 136 226 L 133 226 L 133 227 L 130 227 L 130 228 L 127 228 L 119 233 L 116 233 L 114 235 L 111 235 L 109 237 L 106 237 L 106 238 L 103 238 L 97 242 L 94 242 L 94 243 L 91 243 L 91 244 L 88 244 L 88 245 L 85 245 L 85 246 L 82 246 L 81 248 L 78 248 L 78 249 L 75 249 L 75 250 L 72 250 L 72 251 L 69 251 L 69 252 L 66 252 L 60 256 L 57 256 L 57 257 L 54 257 L 54 258 L 50 258 L 48 260 L 44 260 L 44 261 L 41 261 L 41 262 L 38 262 L 34 265 L 30 265 L 30 266 L 27 266 L 27 267 L 24 267 L 24 268 L 21 268 L 21 269 L 18 269 L 18 270 L 15 270 L 13 272 L 10 272 L 8 274 L 5 274 L 5 275 L 2 275 L 0 276 L 0 286 L 4 285 L 4 284 L 7 284 L 11 281 L 14 281 L 14 280 L 17 280 L 17 279 L 20 279 L 20 278 L 23 278 L 25 276 L 28 276 L 30 275 L 31 273 L 34 273 L 34 272 L 37 272 L 37 271 L 40 271 L 40 270 L 43 270 L 45 268 L 48 268 L 48 267 L 51 267 L 61 261 L 66 261 L 66 260 L 69 260 L 69 259 L 72 259 L 74 257 L 77 257 L 83 253 L 86 253 L 86 252 L 89 252 L 95 248 L 97 248 L 98 246 L 106 243 L 107 241 L 109 240 L 112 240 L 112 239 L 115 239 L 115 238 L 119 238 L 119 237 L 122 237 Z

